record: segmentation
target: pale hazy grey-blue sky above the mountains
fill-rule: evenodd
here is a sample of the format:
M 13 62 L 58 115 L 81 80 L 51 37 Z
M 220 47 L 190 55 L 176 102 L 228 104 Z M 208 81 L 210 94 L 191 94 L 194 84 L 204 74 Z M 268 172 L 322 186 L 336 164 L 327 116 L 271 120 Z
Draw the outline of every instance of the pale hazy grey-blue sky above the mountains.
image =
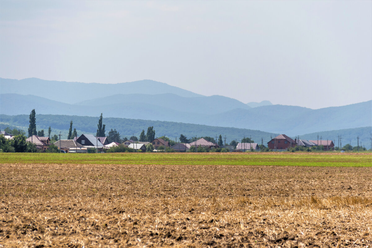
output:
M 0 77 L 150 79 L 312 109 L 365 102 L 372 1 L 0 0 Z

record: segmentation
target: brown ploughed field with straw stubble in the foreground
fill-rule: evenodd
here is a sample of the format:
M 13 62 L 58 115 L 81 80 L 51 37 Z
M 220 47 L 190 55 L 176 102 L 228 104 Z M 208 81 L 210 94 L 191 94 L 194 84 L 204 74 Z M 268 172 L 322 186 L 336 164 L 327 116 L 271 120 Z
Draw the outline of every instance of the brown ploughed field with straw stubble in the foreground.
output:
M 371 167 L 3 164 L 0 247 L 372 247 Z

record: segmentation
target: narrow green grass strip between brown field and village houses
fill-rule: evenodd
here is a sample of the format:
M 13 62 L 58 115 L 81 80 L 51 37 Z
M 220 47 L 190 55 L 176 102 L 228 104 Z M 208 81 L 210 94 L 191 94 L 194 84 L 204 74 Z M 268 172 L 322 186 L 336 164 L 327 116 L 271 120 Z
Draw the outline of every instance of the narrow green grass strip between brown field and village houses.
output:
M 0 153 L 0 164 L 291 165 L 372 167 L 371 153 Z

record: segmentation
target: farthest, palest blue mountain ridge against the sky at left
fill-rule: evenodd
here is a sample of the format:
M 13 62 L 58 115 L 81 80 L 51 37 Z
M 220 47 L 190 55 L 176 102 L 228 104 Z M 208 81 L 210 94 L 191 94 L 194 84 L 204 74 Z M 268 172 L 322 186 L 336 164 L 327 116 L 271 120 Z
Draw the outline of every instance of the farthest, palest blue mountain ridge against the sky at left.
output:
M 53 90 L 57 88 L 58 90 Z M 49 81 L 39 78 L 22 80 L 0 78 L 0 92 L 45 97 L 62 103 L 77 102 L 121 94 L 163 94 L 172 93 L 183 97 L 197 97 L 200 94 L 170 86 L 153 80 L 140 80 L 128 83 L 99 84 Z

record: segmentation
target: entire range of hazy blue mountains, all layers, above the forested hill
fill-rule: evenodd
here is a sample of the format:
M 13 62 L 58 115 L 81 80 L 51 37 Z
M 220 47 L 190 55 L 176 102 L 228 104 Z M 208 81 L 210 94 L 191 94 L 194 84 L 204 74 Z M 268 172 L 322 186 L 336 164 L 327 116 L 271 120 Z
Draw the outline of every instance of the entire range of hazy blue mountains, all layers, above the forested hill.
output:
M 372 125 L 372 101 L 323 109 L 272 105 L 269 101 L 244 104 L 151 80 L 87 84 L 1 78 L 0 90 L 0 113 L 5 115 L 28 115 L 32 109 L 45 115 L 103 113 L 103 117 L 254 129 L 290 136 Z

